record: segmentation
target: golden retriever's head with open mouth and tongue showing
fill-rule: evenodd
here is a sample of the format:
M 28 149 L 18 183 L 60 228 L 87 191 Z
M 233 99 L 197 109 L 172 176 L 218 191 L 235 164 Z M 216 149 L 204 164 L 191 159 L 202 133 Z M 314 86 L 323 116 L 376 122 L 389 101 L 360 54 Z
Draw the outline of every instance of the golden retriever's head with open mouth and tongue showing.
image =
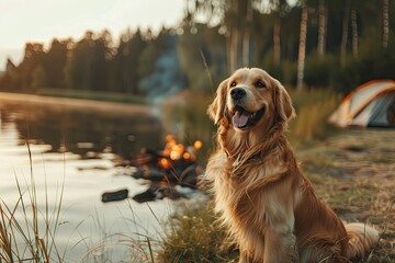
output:
M 267 134 L 279 125 L 283 130 L 295 115 L 284 87 L 258 68 L 238 69 L 224 80 L 207 113 L 215 124 L 237 134 Z

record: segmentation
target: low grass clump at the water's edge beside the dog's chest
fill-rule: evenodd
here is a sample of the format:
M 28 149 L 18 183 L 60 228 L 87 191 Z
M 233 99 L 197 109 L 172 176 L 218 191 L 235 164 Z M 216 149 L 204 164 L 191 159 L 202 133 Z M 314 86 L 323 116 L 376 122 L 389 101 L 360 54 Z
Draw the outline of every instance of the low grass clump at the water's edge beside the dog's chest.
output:
M 232 262 L 235 247 L 212 213 L 212 202 L 180 207 L 169 219 L 159 262 Z

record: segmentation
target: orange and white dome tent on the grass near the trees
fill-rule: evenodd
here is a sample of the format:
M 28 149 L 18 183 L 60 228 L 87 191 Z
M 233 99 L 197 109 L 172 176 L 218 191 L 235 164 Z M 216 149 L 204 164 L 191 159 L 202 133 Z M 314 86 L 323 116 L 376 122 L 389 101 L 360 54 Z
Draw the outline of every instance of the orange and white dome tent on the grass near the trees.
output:
M 328 122 L 340 127 L 395 127 L 395 81 L 372 80 L 358 87 Z

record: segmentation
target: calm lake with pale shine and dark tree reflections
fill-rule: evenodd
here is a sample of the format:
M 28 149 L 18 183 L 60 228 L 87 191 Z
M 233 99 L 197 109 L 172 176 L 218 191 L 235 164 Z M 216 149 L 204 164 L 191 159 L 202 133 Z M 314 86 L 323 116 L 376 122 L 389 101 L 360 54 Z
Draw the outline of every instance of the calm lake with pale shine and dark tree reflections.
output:
M 177 203 L 104 204 L 101 194 L 127 188 L 133 196 L 147 188 L 145 181 L 122 175 L 114 160 L 129 159 L 143 147 L 161 149 L 167 133 L 184 133 L 177 118 L 163 118 L 169 116 L 160 107 L 0 94 L 2 207 L 18 204 L 20 184 L 26 204 L 35 191 L 40 218 L 61 204 L 55 244 L 66 262 L 128 262 L 133 256 L 139 262 L 147 250 L 134 240 L 159 238 Z M 205 134 L 203 140 L 210 141 Z

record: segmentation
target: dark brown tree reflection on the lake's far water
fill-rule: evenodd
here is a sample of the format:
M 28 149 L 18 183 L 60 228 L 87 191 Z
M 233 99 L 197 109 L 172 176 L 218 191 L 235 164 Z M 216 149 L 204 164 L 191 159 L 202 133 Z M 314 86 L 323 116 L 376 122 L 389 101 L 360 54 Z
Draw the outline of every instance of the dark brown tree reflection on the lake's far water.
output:
M 114 152 L 129 158 L 142 147 L 161 145 L 160 121 L 147 114 L 129 115 L 40 106 L 33 104 L 2 103 L 1 122 L 15 123 L 21 144 L 52 146 L 52 151 L 70 151 L 86 156 L 91 152 Z

